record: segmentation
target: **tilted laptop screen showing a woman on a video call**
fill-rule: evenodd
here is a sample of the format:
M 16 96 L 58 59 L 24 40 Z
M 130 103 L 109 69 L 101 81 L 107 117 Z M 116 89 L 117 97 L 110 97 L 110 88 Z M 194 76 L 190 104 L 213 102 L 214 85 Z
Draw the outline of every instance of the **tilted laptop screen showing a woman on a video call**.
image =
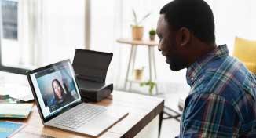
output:
M 30 74 L 30 78 L 45 119 L 81 102 L 75 72 L 69 60 L 39 68 Z

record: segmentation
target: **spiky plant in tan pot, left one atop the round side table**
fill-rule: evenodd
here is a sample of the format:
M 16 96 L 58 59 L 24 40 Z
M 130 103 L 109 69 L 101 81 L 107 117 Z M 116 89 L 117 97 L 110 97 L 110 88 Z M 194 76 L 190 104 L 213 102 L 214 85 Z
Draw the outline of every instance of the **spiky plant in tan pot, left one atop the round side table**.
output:
M 135 13 L 134 9 L 133 9 L 133 24 L 131 25 L 132 27 L 132 38 L 134 40 L 141 40 L 143 37 L 143 31 L 144 31 L 144 27 L 141 26 L 141 23 L 148 18 L 148 16 L 150 15 L 150 13 L 146 14 L 141 20 L 137 19 L 137 14 Z

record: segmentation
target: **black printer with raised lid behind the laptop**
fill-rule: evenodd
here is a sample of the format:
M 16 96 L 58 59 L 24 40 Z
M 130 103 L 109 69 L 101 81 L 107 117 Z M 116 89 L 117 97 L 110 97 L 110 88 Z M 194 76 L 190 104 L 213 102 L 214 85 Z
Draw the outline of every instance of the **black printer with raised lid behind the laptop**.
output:
M 82 100 L 97 102 L 112 93 L 113 84 L 105 82 L 112 56 L 113 53 L 75 49 L 73 67 Z

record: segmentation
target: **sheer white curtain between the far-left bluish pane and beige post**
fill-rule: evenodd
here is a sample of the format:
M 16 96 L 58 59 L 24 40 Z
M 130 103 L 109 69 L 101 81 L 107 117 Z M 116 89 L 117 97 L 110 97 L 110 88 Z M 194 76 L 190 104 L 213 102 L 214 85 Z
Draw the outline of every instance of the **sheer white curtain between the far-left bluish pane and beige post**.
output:
M 73 59 L 85 45 L 83 0 L 20 0 L 20 64 L 42 66 Z

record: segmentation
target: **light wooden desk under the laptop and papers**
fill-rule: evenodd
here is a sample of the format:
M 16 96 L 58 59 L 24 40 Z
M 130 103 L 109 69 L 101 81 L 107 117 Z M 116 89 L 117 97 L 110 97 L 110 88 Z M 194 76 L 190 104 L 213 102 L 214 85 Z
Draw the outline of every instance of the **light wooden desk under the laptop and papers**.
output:
M 133 137 L 141 131 L 149 122 L 152 121 L 158 114 L 160 119 L 163 117 L 163 99 L 143 96 L 135 93 L 125 93 L 115 91 L 112 93 L 112 99 L 105 99 L 98 102 L 98 105 L 106 107 L 118 107 L 124 111 L 128 111 L 129 114 L 126 118 L 123 118 L 120 122 L 113 125 L 112 128 L 108 129 L 103 133 L 101 138 L 118 138 L 118 137 Z M 162 120 L 162 119 L 161 119 Z M 9 121 L 13 121 L 9 120 Z M 27 126 L 22 129 L 19 133 L 13 136 L 17 137 L 39 137 L 35 134 L 43 134 L 54 137 L 65 137 L 65 138 L 79 138 L 86 137 L 78 133 L 65 132 L 60 129 L 54 129 L 44 127 L 38 114 L 38 109 L 34 105 L 32 108 L 30 117 L 27 120 L 14 120 L 15 122 L 26 122 Z M 159 126 L 161 122 L 159 122 Z M 159 127 L 159 130 L 161 127 Z M 34 136 L 33 136 L 34 135 Z

